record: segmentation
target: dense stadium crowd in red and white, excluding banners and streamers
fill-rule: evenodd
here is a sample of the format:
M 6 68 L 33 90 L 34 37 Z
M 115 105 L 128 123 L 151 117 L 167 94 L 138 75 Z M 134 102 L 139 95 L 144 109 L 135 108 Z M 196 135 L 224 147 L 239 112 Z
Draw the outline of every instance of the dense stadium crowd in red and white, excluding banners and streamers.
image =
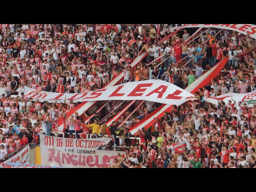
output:
M 232 100 L 220 101 L 214 106 L 204 101 L 209 96 L 256 90 L 255 52 L 236 58 L 254 48 L 254 39 L 249 34 L 229 30 L 219 33 L 219 29 L 211 29 L 187 42 L 195 30 L 181 30 L 157 45 L 171 33 L 169 26 L 145 25 L 147 35 L 144 37 L 139 35 L 140 26 L 0 25 L 0 159 L 27 143 L 38 143 L 39 132 L 58 136 L 58 119 L 65 117 L 65 137 L 86 138 L 89 133 L 94 137 L 114 135 L 115 146 L 130 147 L 112 167 L 254 167 L 256 106 L 248 108 Z M 165 32 L 161 35 L 159 31 Z M 129 44 L 133 39 L 132 45 Z M 147 57 L 136 68 L 131 68 L 130 64 L 144 50 L 148 52 Z M 164 57 L 157 59 L 163 54 Z M 133 137 L 129 128 L 160 103 L 152 103 L 150 107 L 141 105 L 119 127 L 139 105 L 137 101 L 107 127 L 105 122 L 127 102 L 117 107 L 121 101 L 111 101 L 108 110 L 99 114 L 95 113 L 99 106 L 94 106 L 83 114 L 85 118 L 94 114 L 90 122 L 84 124 L 77 113 L 66 116 L 79 103 L 33 101 L 23 93 L 24 86 L 38 92 L 88 93 L 101 89 L 121 71 L 125 72 L 123 83 L 155 78 L 186 89 L 226 56 L 229 61 L 221 74 L 195 93 L 198 100 L 174 106 L 170 114 L 156 119 L 151 129 L 141 129 L 135 135 L 140 143 L 129 139 Z

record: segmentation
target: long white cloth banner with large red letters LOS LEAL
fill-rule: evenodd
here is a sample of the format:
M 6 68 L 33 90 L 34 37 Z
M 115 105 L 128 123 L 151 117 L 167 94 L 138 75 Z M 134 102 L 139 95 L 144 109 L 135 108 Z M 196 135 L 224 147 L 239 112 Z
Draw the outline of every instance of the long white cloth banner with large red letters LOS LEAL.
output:
M 180 87 L 162 80 L 148 80 L 129 82 L 121 85 L 110 86 L 105 89 L 90 93 L 51 93 L 36 92 L 25 87 L 25 95 L 39 102 L 64 102 L 65 98 L 73 102 L 102 101 L 102 100 L 148 100 L 170 105 L 181 105 L 183 102 L 195 99 L 194 95 Z

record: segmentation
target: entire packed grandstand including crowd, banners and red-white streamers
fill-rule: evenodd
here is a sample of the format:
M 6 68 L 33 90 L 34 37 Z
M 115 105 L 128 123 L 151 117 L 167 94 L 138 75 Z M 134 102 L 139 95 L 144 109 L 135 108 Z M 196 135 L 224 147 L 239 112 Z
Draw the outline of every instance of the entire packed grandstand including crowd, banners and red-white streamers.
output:
M 254 168 L 255 29 L 0 25 L 0 167 Z

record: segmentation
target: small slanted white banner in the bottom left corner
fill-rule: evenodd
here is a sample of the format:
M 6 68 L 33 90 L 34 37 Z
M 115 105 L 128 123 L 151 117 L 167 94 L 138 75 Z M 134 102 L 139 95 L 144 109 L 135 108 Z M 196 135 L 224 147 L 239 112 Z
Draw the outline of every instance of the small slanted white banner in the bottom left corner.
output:
M 29 162 L 30 162 L 30 148 L 29 148 L 29 145 L 27 145 L 18 154 L 14 155 L 13 157 L 7 159 L 5 162 L 1 163 L 0 168 L 5 168 L 9 163 L 29 164 Z

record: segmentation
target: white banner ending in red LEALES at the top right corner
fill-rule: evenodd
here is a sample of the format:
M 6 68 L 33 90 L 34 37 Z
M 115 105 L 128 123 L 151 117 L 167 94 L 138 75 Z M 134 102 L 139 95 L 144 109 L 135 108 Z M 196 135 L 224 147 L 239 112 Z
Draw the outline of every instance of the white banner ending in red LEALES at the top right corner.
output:
M 194 27 L 233 30 L 244 35 L 249 34 L 250 37 L 256 39 L 256 26 L 252 24 L 184 24 L 182 27 L 173 27 L 172 30 L 180 29 L 180 28 L 194 28 Z

